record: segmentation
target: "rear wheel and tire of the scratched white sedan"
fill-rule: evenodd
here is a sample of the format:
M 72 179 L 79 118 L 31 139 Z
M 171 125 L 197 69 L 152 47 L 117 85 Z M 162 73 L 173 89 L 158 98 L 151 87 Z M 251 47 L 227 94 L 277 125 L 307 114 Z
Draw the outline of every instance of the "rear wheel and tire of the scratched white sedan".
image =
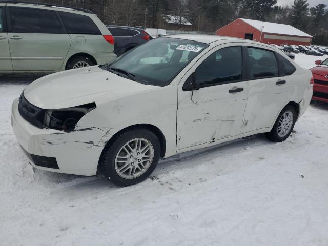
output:
M 290 113 L 292 115 L 292 117 L 293 117 L 292 121 L 286 125 L 283 122 L 279 122 L 280 120 L 282 120 L 282 121 L 284 121 L 284 119 L 286 120 L 286 115 L 289 115 L 288 113 Z M 296 113 L 295 108 L 292 107 L 291 105 L 287 105 L 280 112 L 275 124 L 272 127 L 272 130 L 268 133 L 265 133 L 265 136 L 267 136 L 271 141 L 274 141 L 274 142 L 282 142 L 282 141 L 286 140 L 289 137 L 289 135 L 291 134 L 291 132 L 293 131 L 296 119 L 297 119 L 297 113 Z M 286 120 L 286 121 L 288 121 L 288 120 Z M 285 128 L 285 132 L 281 132 L 281 130 L 283 131 L 283 128 Z M 279 133 L 279 131 L 280 131 L 280 133 Z M 281 134 L 281 133 L 283 133 L 283 134 Z

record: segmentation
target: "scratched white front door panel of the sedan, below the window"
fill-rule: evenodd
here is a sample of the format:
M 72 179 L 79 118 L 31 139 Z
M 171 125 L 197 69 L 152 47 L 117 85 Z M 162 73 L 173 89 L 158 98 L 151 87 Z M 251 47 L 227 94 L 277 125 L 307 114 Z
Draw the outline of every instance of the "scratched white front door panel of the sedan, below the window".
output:
M 242 92 L 229 93 L 232 88 Z M 248 81 L 179 93 L 177 149 L 236 136 L 240 133 Z

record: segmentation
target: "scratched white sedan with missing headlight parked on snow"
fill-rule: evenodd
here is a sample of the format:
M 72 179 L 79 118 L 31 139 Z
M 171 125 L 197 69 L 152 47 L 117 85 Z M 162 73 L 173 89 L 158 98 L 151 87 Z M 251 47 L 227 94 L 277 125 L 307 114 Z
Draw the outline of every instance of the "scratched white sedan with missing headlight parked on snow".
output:
M 273 46 L 175 35 L 35 80 L 13 102 L 12 127 L 33 167 L 99 168 L 129 186 L 159 158 L 257 133 L 285 140 L 312 93 L 310 70 Z

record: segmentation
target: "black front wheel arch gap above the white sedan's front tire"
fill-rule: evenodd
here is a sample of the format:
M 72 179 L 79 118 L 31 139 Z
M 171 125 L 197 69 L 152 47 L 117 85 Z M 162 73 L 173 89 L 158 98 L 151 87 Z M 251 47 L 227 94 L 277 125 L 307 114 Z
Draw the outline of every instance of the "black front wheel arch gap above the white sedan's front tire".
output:
M 153 125 L 150 125 L 150 124 L 137 124 L 137 125 L 133 125 L 133 126 L 130 126 L 130 127 L 126 127 L 124 129 L 118 131 L 117 133 L 115 133 L 111 137 L 111 139 L 107 142 L 105 148 L 101 152 L 101 155 L 100 155 L 100 158 L 99 158 L 99 161 L 98 161 L 98 166 L 99 166 L 99 163 L 101 162 L 101 159 L 103 159 L 103 154 L 112 145 L 113 141 L 115 140 L 115 137 L 118 136 L 121 132 L 131 130 L 131 129 L 134 129 L 134 128 L 144 128 L 144 129 L 147 129 L 147 130 L 151 131 L 152 133 L 154 133 L 158 137 L 158 140 L 159 140 L 159 143 L 160 143 L 160 157 L 165 156 L 166 140 L 165 140 L 165 137 L 164 137 L 162 131 L 159 130 L 159 128 L 157 128 Z

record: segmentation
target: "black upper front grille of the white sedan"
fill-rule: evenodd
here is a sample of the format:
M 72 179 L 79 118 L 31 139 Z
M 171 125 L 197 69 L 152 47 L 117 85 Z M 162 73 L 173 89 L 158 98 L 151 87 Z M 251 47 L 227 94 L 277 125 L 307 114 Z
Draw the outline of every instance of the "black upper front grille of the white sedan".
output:
M 40 109 L 25 99 L 24 94 L 19 97 L 18 112 L 22 117 L 35 127 L 43 128 L 45 110 Z

